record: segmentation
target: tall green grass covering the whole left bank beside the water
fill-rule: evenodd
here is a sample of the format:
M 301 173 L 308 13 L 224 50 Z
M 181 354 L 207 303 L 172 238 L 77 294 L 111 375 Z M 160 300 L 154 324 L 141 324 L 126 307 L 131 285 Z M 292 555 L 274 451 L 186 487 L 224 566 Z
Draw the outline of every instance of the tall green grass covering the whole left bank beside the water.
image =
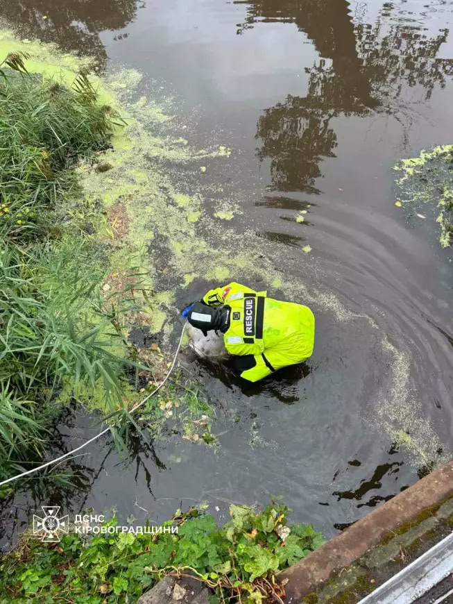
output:
M 79 271 L 80 235 L 69 249 L 69 237 L 49 237 L 58 206 L 78 189 L 76 162 L 108 146 L 117 118 L 87 74 L 65 87 L 28 74 L 26 58 L 0 63 L 0 479 L 39 460 L 67 380 L 101 381 L 107 399 L 121 398 L 126 360 L 112 346 L 134 304 L 126 292 L 109 303 L 101 271 L 90 280 Z

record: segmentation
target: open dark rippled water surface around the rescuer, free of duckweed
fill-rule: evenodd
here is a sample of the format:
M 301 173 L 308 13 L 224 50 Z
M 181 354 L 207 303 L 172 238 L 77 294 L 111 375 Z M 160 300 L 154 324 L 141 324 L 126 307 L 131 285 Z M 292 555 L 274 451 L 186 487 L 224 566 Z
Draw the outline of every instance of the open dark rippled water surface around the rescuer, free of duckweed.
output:
M 316 283 L 365 315 L 343 321 L 319 312 L 307 367 L 259 385 L 191 362 L 216 401 L 214 432 L 225 432 L 219 451 L 180 439 L 137 443 L 125 466 L 103 440 L 70 462 L 85 477 L 78 489 L 35 480 L 35 492 L 5 502 L 3 542 L 26 526 L 32 507 L 49 502 L 73 513 L 115 505 L 123 518 L 159 523 L 181 501 L 206 499 L 225 517 L 229 502 L 266 503 L 269 494 L 284 495 L 297 519 L 332 536 L 450 455 L 451 253 L 432 223 L 404 220 L 395 208 L 391 168 L 453 142 L 452 2 L 1 0 L 0 7 L 27 37 L 169 85 L 182 112 L 196 110 L 200 142 L 221 133 L 234 150 L 216 178 L 237 191 L 244 213 L 235 228 L 287 244 L 285 277 Z M 309 260 L 296 251 L 307 243 Z M 188 299 L 200 287 L 192 285 Z M 383 335 L 409 360 L 407 384 L 404 358 L 383 352 Z M 68 423 L 62 447 L 97 431 L 77 410 Z

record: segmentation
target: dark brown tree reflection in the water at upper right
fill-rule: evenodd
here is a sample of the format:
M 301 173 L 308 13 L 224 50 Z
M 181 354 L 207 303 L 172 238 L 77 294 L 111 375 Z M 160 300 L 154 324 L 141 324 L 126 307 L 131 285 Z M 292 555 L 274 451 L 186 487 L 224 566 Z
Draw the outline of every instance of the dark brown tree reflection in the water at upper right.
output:
M 238 34 L 259 22 L 296 24 L 313 42 L 320 59 L 306 67 L 305 97 L 288 97 L 264 110 L 257 123 L 260 160 L 271 159 L 271 190 L 319 193 L 320 162 L 335 157 L 332 118 L 339 115 L 393 115 L 411 124 L 406 87 L 421 86 L 425 99 L 445 86 L 453 60 L 436 58 L 448 30 L 429 37 L 419 26 L 392 22 L 386 4 L 375 24 L 353 24 L 345 0 L 245 0 L 246 19 Z

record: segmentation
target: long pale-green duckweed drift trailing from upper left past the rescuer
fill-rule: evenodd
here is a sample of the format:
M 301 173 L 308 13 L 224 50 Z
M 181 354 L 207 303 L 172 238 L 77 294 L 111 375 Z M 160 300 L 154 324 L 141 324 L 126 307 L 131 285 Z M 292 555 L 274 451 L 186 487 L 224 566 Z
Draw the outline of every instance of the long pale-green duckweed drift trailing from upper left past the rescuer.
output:
M 10 37 L 7 37 L 7 42 L 2 38 L 1 43 L 6 43 L 7 51 L 25 49 L 17 41 L 14 47 Z M 82 62 L 90 65 L 89 60 L 80 61 L 71 56 L 62 58 L 49 44 L 33 42 L 32 45 L 26 44 L 26 47 L 27 51 L 33 47 L 32 52 L 36 51 L 40 57 L 33 62 L 35 72 L 53 73 L 56 76 L 62 69 L 68 83 L 74 80 Z M 337 296 L 318 290 L 313 279 L 308 285 L 300 280 L 296 282 L 291 277 L 293 261 L 287 259 L 285 246 L 266 242 L 262 237 L 257 237 L 253 230 L 236 233 L 230 225 L 225 224 L 231 214 L 238 213 L 228 199 L 220 199 L 216 204 L 220 208 L 218 212 L 224 214 L 214 215 L 213 218 L 208 212 L 203 212 L 206 201 L 212 199 L 212 193 L 221 196 L 224 187 L 210 182 L 209 172 L 203 170 L 205 166 L 200 169 L 200 159 L 228 160 L 232 149 L 225 144 L 217 144 L 215 140 L 210 149 L 196 149 L 185 126 L 178 124 L 174 118 L 177 110 L 171 106 L 172 101 L 166 99 L 160 108 L 148 94 L 144 95 L 140 89 L 142 79 L 134 70 L 129 74 L 125 69 L 102 79 L 93 74 L 92 81 L 98 87 L 103 102 L 117 108 L 127 125 L 117 129 L 112 139 L 112 149 L 99 157 L 99 161 L 108 162 L 112 169 L 99 173 L 89 166 L 80 167 L 83 189 L 92 203 L 100 201 L 109 208 L 121 203 L 128 215 L 128 231 L 121 238 L 113 229 L 110 228 L 113 236 L 105 229 L 105 239 L 120 247 L 111 255 L 111 274 L 118 274 L 125 265 L 128 266 L 128 255 L 133 257 L 147 249 L 143 267 L 147 288 L 154 292 L 154 296 L 149 305 L 144 305 L 144 314 L 148 317 L 146 323 L 151 333 L 162 338 L 164 349 L 169 345 L 173 332 L 172 322 L 168 319 L 176 310 L 174 301 L 198 276 L 194 267 L 203 267 L 198 272 L 214 285 L 226 283 L 230 278 L 237 278 L 236 275 L 241 275 L 244 281 L 259 277 L 264 283 L 279 287 L 289 299 L 303 300 L 312 305 L 316 312 L 330 312 L 336 321 L 364 321 L 377 329 L 370 317 L 351 312 Z M 126 82 L 126 86 L 119 85 Z M 417 163 L 409 162 L 404 167 L 416 169 Z M 196 221 L 191 221 L 194 212 L 200 212 L 200 215 L 197 215 Z M 220 218 L 222 224 L 216 218 Z M 304 262 L 304 255 L 310 251 L 309 245 L 301 248 L 298 260 Z M 285 269 L 288 269 L 288 276 L 282 278 Z M 170 291 L 172 296 L 168 296 Z M 163 297 L 159 297 L 160 294 Z M 388 340 L 382 335 L 383 349 L 386 349 L 386 343 Z M 391 363 L 388 386 L 381 396 L 388 400 L 392 392 L 398 392 L 398 404 L 404 406 L 407 389 L 398 389 L 398 382 L 402 380 L 401 371 L 406 372 L 404 380 L 409 379 L 409 366 L 398 366 L 396 349 L 390 352 L 386 349 L 386 352 L 394 363 Z M 382 426 L 385 424 L 389 433 L 395 433 L 395 430 L 404 428 L 400 420 L 395 415 L 392 419 L 383 418 Z M 376 426 L 376 421 L 373 426 Z M 414 448 L 417 454 L 420 450 L 423 450 L 422 445 Z M 422 459 L 426 457 L 424 453 Z

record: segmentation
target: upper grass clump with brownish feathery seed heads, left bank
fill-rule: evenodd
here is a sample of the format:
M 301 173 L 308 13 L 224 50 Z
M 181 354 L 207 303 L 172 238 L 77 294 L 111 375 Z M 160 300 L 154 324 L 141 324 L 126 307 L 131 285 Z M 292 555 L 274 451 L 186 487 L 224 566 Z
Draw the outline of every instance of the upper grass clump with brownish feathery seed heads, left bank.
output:
M 70 168 L 105 149 L 116 123 L 86 72 L 69 89 L 28 74 L 26 58 L 10 53 L 0 63 L 0 237 L 15 241 L 42 226 L 75 184 Z

